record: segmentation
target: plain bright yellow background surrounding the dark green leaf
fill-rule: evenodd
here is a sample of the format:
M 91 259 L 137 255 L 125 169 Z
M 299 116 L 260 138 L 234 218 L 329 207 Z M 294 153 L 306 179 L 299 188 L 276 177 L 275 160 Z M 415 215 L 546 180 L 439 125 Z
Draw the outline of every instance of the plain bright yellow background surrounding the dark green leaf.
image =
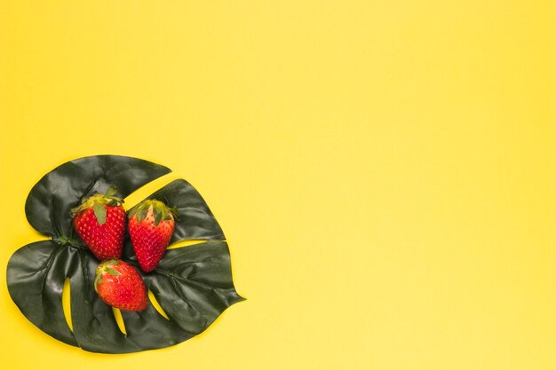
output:
M 555 21 L 552 1 L 1 0 L 3 367 L 556 368 Z M 91 154 L 174 170 L 135 200 L 195 185 L 248 300 L 131 355 L 30 324 L 5 284 L 41 238 L 24 202 Z

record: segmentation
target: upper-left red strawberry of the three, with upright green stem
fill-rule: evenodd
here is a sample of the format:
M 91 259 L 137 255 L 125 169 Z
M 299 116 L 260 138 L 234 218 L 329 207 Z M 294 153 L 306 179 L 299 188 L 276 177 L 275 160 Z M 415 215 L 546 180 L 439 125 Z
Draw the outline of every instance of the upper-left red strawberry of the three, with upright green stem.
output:
M 106 195 L 96 193 L 71 210 L 75 231 L 99 260 L 122 256 L 125 209 L 114 195 L 111 186 Z

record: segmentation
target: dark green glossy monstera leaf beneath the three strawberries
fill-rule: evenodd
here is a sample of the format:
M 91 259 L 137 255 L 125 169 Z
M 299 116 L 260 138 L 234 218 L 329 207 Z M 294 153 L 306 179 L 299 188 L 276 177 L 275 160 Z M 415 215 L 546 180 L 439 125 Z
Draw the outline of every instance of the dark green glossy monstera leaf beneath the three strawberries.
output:
M 126 334 L 114 311 L 92 286 L 99 261 L 75 235 L 69 210 L 110 185 L 125 198 L 140 186 L 171 172 L 137 158 L 98 155 L 69 161 L 31 189 L 25 205 L 29 224 L 50 240 L 17 250 L 7 269 L 8 290 L 20 311 L 48 335 L 83 350 L 126 353 L 168 347 L 197 335 L 230 305 L 235 291 L 224 233 L 209 207 L 185 180 L 175 180 L 147 197 L 178 209 L 171 243 L 209 240 L 167 250 L 155 271 L 141 273 L 168 319 L 149 302 L 144 311 L 122 311 Z M 123 260 L 139 266 L 131 242 Z M 66 322 L 62 290 L 69 279 L 73 330 Z

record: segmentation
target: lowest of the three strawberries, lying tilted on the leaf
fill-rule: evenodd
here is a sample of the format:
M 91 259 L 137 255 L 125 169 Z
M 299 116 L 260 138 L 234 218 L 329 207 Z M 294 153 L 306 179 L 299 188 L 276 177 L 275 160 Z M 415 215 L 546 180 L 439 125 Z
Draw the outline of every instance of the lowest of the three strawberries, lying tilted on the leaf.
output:
M 139 272 L 118 259 L 99 264 L 94 287 L 100 299 L 112 307 L 127 311 L 147 307 L 147 288 Z

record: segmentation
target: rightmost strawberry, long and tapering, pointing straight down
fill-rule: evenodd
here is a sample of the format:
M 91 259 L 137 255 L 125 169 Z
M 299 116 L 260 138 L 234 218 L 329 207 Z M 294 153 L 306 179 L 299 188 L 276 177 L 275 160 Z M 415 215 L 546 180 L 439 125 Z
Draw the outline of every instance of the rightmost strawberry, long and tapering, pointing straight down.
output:
M 163 258 L 174 232 L 172 209 L 162 201 L 142 201 L 129 212 L 128 230 L 141 270 L 151 272 Z

